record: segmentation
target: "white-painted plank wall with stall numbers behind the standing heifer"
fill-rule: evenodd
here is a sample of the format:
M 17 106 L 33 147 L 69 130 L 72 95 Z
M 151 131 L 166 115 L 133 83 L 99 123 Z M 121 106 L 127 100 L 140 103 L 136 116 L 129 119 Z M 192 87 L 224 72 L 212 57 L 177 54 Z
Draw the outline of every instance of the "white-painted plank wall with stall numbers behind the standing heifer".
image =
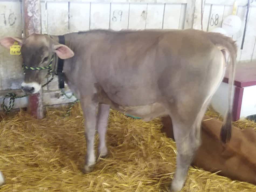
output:
M 198 3 L 199 0 L 196 0 Z M 188 0 L 49 0 L 47 9 L 41 1 L 42 33 L 60 35 L 89 29 L 184 29 L 193 25 L 194 1 Z M 206 0 L 203 15 L 203 30 L 220 27 L 223 19 L 232 13 L 234 0 Z M 165 5 L 164 5 L 165 4 Z M 212 4 L 212 6 L 211 6 Z M 238 1 L 237 15 L 242 19 L 240 32 L 233 36 L 237 40 L 238 60 L 256 59 L 256 2 L 251 4 L 244 50 L 240 51 L 243 37 L 247 0 Z M 0 38 L 6 35 L 21 36 L 19 0 L 0 1 Z M 197 4 L 198 5 L 198 4 Z M 212 9 L 211 9 L 212 8 Z M 198 8 L 197 8 L 198 10 Z M 4 15 L 5 20 L 4 21 Z M 14 13 L 16 22 L 8 26 L 8 14 Z M 211 13 L 211 14 L 210 14 Z M 215 21 L 216 14 L 219 16 Z M 210 16 L 210 17 L 209 17 Z M 14 17 L 14 18 L 15 18 Z M 214 25 L 208 22 L 215 21 Z M 12 19 L 12 18 L 11 18 Z M 198 22 L 198 20 L 197 20 Z M 1 77 L 2 76 L 2 77 Z M 0 47 L 0 90 L 20 88 L 23 78 L 21 57 L 11 56 Z M 48 89 L 58 89 L 57 78 Z M 47 99 L 49 99 L 47 97 Z

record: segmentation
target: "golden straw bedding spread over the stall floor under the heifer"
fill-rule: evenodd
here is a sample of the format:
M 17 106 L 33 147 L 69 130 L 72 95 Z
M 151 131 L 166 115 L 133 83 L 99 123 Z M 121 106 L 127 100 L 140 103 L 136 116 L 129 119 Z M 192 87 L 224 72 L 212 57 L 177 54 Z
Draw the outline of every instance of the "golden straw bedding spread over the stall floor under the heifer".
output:
M 82 174 L 86 144 L 81 107 L 77 103 L 71 116 L 63 118 L 65 112 L 47 109 L 46 117 L 36 120 L 20 111 L 0 119 L 0 170 L 6 179 L 0 192 L 167 191 L 176 148 L 161 133 L 160 119 L 145 123 L 111 110 L 109 155 L 98 160 L 92 173 Z M 207 115 L 221 118 L 211 109 Z M 252 121 L 235 125 L 256 127 Z M 256 186 L 191 167 L 182 191 L 253 192 Z

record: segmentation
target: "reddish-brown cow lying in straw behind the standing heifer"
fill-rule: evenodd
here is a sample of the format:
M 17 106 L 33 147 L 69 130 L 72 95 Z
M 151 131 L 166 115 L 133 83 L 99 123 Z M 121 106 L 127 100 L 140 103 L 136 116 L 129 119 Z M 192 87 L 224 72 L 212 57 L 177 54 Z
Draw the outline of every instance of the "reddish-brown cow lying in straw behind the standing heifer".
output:
M 174 139 L 172 120 L 162 117 L 167 136 Z M 240 130 L 232 126 L 232 136 L 226 148 L 220 140 L 222 121 L 204 116 L 202 121 L 202 144 L 192 165 L 233 180 L 256 184 L 256 132 L 253 129 Z

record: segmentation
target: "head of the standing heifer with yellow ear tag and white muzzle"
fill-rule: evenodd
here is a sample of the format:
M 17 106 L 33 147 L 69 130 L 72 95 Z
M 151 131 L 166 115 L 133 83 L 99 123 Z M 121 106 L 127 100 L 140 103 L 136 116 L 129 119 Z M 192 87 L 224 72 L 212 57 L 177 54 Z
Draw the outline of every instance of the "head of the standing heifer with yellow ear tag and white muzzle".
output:
M 41 82 L 46 78 L 48 68 L 54 70 L 56 67 L 56 60 L 53 61 L 56 55 L 61 59 L 74 56 L 69 47 L 58 43 L 58 38 L 46 34 L 31 34 L 26 39 L 5 37 L 0 40 L 0 44 L 10 49 L 15 41 L 21 46 L 20 52 L 25 66 L 21 88 L 26 94 L 37 93 L 41 89 Z

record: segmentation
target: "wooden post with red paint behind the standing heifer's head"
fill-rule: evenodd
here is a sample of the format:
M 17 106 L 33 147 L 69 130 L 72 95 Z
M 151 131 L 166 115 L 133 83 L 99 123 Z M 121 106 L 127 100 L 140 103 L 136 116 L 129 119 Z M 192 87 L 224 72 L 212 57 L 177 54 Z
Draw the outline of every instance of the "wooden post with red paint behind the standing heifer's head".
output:
M 32 33 L 42 33 L 41 29 L 41 4 L 40 0 L 23 1 L 23 13 L 25 20 L 25 37 Z M 43 89 L 39 93 L 29 96 L 28 112 L 35 118 L 43 118 Z

